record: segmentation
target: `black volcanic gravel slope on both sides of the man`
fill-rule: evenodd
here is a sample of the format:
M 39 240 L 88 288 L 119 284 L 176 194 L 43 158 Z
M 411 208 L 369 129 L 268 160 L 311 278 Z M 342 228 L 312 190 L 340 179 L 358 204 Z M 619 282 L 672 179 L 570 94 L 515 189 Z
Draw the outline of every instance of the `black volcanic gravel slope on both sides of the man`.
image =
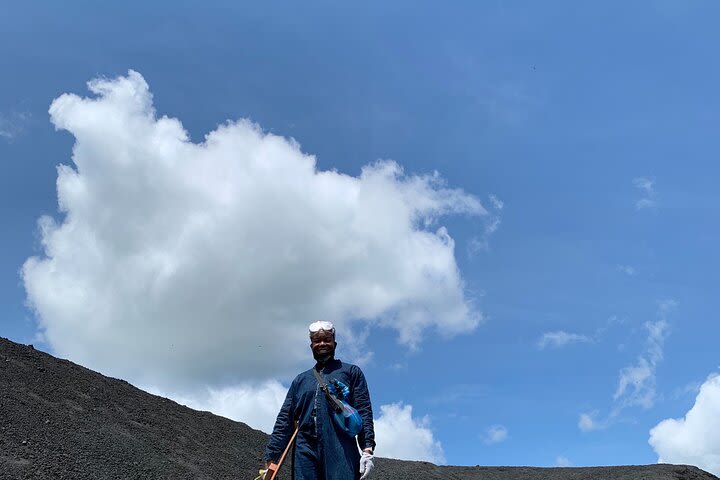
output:
M 0 478 L 246 479 L 267 435 L 0 338 Z M 382 441 L 382 440 L 381 440 Z M 282 478 L 290 478 L 283 467 Z M 376 459 L 373 480 L 711 480 L 684 465 L 438 467 Z M 332 480 L 332 479 L 330 479 Z

